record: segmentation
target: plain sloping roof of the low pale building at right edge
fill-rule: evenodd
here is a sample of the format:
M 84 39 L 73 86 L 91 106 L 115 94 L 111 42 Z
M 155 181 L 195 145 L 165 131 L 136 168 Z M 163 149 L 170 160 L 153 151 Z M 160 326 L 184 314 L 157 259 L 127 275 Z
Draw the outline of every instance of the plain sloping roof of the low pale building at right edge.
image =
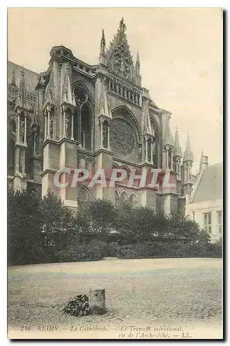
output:
M 208 165 L 202 170 L 200 179 L 197 179 L 197 185 L 194 187 L 195 194 L 191 203 L 222 199 L 222 171 L 222 163 Z

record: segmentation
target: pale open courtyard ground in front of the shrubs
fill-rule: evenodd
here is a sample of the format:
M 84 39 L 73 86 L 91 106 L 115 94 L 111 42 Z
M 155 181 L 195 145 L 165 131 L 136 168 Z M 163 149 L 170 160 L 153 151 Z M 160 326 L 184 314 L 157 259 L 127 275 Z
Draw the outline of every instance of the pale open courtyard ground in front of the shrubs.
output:
M 105 315 L 78 318 L 62 312 L 61 304 L 89 288 L 106 289 Z M 222 260 L 101 260 L 9 268 L 10 338 L 129 335 L 221 338 Z

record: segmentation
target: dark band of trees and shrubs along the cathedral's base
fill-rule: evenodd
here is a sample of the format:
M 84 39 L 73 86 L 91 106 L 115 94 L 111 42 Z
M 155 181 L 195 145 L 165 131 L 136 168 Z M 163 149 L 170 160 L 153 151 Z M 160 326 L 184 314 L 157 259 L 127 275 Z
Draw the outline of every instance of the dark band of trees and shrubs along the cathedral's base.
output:
M 8 233 L 10 264 L 222 256 L 222 241 L 210 244 L 209 235 L 182 215 L 106 200 L 73 215 L 51 190 L 43 199 L 10 190 Z

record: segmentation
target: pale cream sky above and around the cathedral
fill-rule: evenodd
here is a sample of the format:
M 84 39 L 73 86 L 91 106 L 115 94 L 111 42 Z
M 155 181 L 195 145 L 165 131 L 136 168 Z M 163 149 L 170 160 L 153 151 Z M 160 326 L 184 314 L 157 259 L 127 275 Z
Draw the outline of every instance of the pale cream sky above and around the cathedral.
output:
M 222 161 L 222 10 L 218 8 L 9 8 L 8 60 L 37 73 L 49 51 L 64 45 L 98 64 L 101 30 L 106 45 L 124 17 L 127 42 L 142 86 L 158 107 L 172 113 L 170 127 L 184 152 L 189 131 L 193 172 L 201 149 L 209 163 Z

